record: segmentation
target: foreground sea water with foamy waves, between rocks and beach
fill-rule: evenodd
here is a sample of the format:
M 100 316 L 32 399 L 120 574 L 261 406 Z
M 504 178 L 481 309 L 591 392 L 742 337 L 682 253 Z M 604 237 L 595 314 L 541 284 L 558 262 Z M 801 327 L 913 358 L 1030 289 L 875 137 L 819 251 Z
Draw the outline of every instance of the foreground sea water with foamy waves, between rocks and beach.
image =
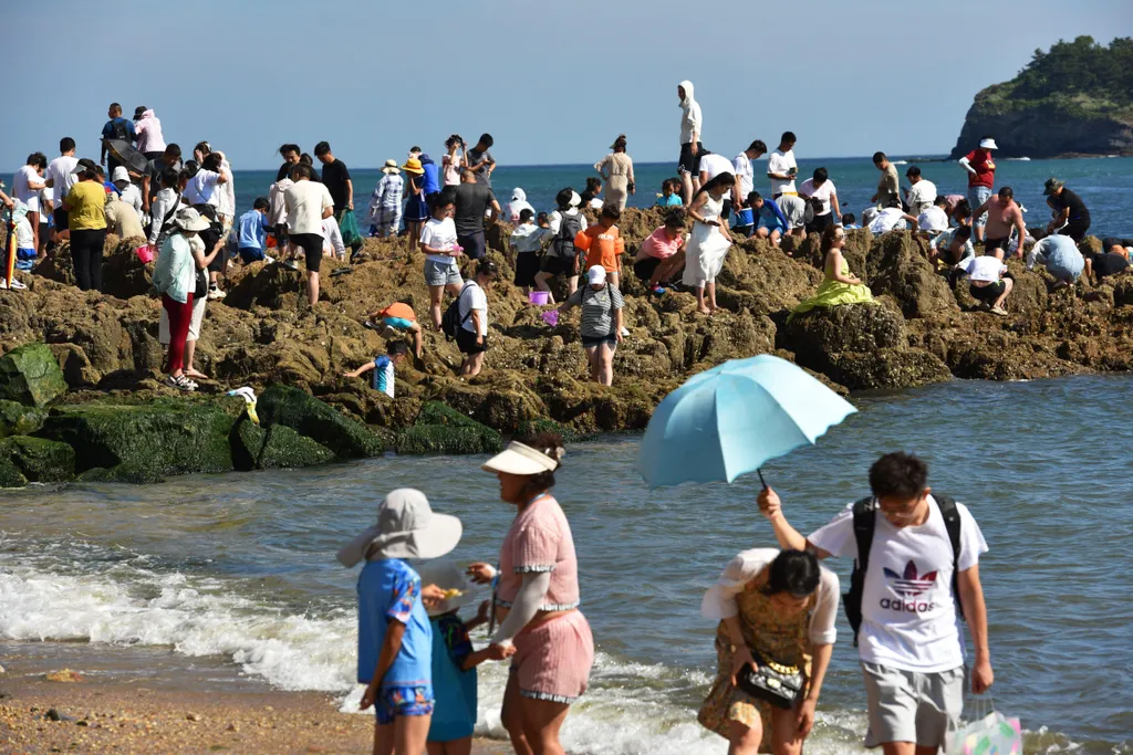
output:
M 860 395 L 861 412 L 817 447 L 765 469 L 809 532 L 867 492 L 878 454 L 929 460 L 932 487 L 971 508 L 990 546 L 981 574 L 995 705 L 1022 719 L 1028 753 L 1133 752 L 1131 386 L 1091 376 Z M 724 741 L 696 722 L 715 672 L 700 595 L 735 552 L 774 538 L 753 504 L 757 480 L 651 491 L 632 471 L 637 445 L 569 448 L 555 489 L 598 650 L 563 738 L 590 755 L 722 755 Z M 355 709 L 357 572 L 334 551 L 373 521 L 385 491 L 416 486 L 463 521 L 452 558 L 494 560 L 511 514 L 480 461 L 386 457 L 5 491 L 0 638 L 58 647 L 80 670 L 84 658 L 142 651 L 164 668 L 224 666 Z M 847 578 L 849 564 L 832 565 Z M 840 633 L 809 752 L 861 752 L 864 695 L 841 617 Z M 480 669 L 478 729 L 502 737 L 505 670 Z

